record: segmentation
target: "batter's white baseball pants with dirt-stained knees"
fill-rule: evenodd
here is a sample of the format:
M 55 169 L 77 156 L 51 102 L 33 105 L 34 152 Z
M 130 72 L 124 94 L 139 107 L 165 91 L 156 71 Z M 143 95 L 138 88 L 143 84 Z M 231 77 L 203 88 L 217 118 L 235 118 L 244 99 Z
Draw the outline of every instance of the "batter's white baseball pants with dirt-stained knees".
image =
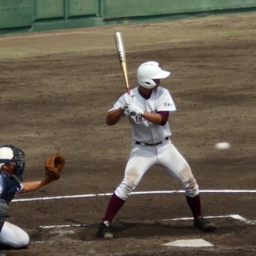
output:
M 199 194 L 197 181 L 190 166 L 171 141 L 156 146 L 133 145 L 126 163 L 123 181 L 114 194 L 126 200 L 143 175 L 156 164 L 166 167 L 167 171 L 181 183 L 187 197 L 196 197 Z

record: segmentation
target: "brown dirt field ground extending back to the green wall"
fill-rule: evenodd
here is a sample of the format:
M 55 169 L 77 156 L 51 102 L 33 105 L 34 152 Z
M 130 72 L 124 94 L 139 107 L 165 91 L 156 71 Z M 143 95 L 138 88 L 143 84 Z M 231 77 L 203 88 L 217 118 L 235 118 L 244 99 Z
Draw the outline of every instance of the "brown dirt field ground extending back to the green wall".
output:
M 203 213 L 218 226 L 214 233 L 194 230 L 184 194 L 177 191 L 133 195 L 114 219 L 115 238 L 96 238 L 130 150 L 129 124 L 105 124 L 125 90 L 117 30 L 132 87 L 146 60 L 172 72 L 163 83 L 178 108 L 169 118 L 172 141 L 200 184 Z M 16 199 L 87 195 L 11 203 L 9 221 L 29 233 L 31 245 L 2 254 L 256 254 L 255 41 L 256 14 L 0 37 L 1 144 L 26 152 L 26 180 L 43 177 L 49 153 L 67 158 L 59 181 Z M 231 148 L 218 151 L 217 142 L 230 142 Z M 180 187 L 160 166 L 136 189 L 165 190 Z M 214 246 L 162 245 L 197 238 Z

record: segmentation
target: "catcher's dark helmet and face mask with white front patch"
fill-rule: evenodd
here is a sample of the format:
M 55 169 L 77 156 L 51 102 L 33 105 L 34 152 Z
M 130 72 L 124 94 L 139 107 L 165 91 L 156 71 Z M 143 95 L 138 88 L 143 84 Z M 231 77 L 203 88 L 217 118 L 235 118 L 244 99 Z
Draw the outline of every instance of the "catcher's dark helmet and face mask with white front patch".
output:
M 23 171 L 25 169 L 25 154 L 14 145 L 0 145 L 0 170 L 5 163 L 16 163 L 14 175 L 23 181 Z

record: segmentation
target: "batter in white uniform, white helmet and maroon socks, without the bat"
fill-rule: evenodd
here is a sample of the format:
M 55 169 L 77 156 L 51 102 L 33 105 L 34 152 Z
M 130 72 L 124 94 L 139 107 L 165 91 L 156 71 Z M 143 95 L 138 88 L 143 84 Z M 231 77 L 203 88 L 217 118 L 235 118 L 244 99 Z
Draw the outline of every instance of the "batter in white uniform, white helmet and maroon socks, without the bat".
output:
M 112 238 L 111 221 L 123 203 L 136 189 L 143 175 L 154 165 L 166 168 L 184 189 L 187 204 L 194 217 L 194 227 L 203 231 L 215 230 L 215 224 L 203 218 L 200 191 L 189 164 L 171 141 L 169 114 L 176 110 L 169 91 L 160 81 L 171 73 L 155 61 L 142 63 L 137 70 L 139 87 L 120 96 L 108 111 L 106 122 L 116 124 L 123 115 L 132 126 L 132 146 L 126 163 L 123 181 L 114 190 L 97 236 Z

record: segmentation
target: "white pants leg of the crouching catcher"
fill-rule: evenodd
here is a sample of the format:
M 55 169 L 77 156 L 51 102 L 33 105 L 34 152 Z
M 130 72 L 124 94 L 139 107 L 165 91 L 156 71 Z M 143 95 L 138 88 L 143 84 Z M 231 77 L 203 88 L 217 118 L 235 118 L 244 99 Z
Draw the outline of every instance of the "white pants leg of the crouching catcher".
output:
M 5 221 L 0 232 L 0 244 L 23 248 L 29 245 L 29 235 L 20 227 Z

